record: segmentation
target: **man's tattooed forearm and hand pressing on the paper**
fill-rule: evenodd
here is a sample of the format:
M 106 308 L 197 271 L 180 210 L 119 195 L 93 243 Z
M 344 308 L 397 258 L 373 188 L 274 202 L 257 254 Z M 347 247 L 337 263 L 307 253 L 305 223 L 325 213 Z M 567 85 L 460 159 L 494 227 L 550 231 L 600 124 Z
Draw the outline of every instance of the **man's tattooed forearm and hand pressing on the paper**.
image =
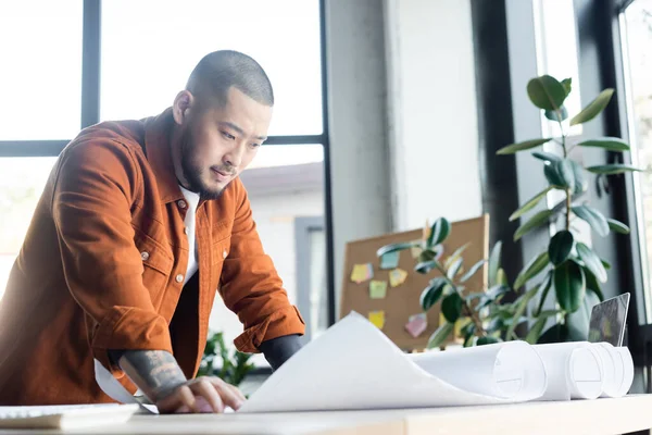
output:
M 175 358 L 164 350 L 112 355 L 161 413 L 224 412 L 225 406 L 237 410 L 246 400 L 237 387 L 218 377 L 187 381 Z

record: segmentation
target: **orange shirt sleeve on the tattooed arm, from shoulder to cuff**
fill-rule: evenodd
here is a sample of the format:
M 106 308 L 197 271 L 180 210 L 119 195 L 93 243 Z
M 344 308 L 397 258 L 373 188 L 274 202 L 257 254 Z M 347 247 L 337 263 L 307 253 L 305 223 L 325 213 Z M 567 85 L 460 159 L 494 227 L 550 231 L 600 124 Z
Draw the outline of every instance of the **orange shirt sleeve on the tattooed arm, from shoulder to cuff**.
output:
M 123 375 L 108 350 L 167 350 L 167 322 L 142 283 L 130 210 L 140 188 L 134 157 L 112 141 L 87 141 L 60 158 L 52 198 L 67 287 L 87 314 L 93 357 Z

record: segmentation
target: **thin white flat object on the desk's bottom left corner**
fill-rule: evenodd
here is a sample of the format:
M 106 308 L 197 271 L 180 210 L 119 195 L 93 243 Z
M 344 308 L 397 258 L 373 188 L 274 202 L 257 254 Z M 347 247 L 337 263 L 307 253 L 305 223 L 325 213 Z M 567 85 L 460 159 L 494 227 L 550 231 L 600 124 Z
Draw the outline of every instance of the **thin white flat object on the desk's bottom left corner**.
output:
M 138 405 L 0 407 L 0 428 L 73 430 L 125 423 Z

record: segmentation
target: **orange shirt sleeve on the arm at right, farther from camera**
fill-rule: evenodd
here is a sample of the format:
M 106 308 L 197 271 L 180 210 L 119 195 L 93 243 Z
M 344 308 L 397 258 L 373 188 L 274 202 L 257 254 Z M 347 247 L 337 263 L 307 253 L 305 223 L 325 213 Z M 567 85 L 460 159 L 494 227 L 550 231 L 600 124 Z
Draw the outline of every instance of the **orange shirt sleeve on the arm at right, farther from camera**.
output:
M 242 352 L 258 353 L 265 340 L 303 335 L 305 324 L 297 307 L 290 303 L 272 259 L 263 250 L 244 187 L 239 183 L 234 187 L 237 211 L 220 293 L 244 326 L 234 341 L 236 347 Z

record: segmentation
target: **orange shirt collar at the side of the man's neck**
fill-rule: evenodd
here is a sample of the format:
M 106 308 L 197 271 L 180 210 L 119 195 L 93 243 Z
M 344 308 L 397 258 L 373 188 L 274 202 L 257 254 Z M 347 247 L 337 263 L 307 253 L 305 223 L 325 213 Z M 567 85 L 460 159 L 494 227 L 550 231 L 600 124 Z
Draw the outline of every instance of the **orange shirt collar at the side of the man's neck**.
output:
M 145 121 L 145 153 L 156 176 L 159 196 L 164 203 L 184 198 L 172 161 L 172 108 Z

